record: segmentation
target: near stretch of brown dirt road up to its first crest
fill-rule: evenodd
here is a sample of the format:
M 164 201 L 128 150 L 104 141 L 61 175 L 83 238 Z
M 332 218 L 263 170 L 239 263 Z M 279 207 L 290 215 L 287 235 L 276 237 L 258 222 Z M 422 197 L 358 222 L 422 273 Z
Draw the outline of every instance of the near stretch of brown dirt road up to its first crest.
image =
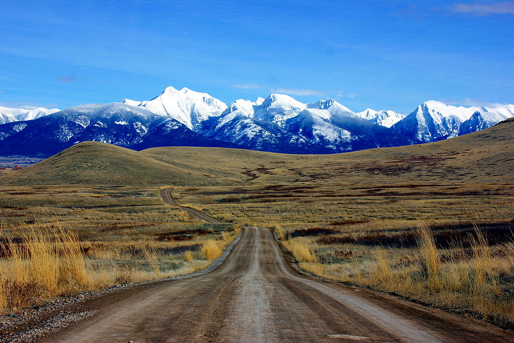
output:
M 44 341 L 514 340 L 488 324 L 304 276 L 287 259 L 268 229 L 245 227 L 212 272 L 90 300 L 77 311 L 98 311 L 95 316 Z

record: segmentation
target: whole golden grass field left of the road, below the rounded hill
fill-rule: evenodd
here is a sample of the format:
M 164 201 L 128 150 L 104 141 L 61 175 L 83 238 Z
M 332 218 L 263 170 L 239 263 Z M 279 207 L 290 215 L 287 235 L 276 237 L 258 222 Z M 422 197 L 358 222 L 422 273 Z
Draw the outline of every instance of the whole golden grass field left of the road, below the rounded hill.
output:
M 0 313 L 113 284 L 182 275 L 238 233 L 164 205 L 158 188 L 0 187 Z

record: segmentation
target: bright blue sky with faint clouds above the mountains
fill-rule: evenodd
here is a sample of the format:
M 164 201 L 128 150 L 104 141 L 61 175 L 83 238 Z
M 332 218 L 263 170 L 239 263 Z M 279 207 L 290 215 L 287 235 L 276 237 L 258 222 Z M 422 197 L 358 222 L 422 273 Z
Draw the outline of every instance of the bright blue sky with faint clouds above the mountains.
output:
M 0 0 L 0 105 L 230 103 L 269 93 L 411 112 L 514 103 L 514 2 Z

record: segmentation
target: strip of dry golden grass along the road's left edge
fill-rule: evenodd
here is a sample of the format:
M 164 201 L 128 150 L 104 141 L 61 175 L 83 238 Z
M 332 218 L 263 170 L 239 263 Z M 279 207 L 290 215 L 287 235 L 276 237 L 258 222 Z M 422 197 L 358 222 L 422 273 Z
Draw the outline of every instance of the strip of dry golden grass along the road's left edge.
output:
M 26 225 L 23 233 L 8 237 L 0 225 L 0 313 L 112 284 L 203 269 L 240 231 L 230 227 L 230 232 L 215 228 L 186 242 L 100 243 L 81 242 L 74 229 L 54 223 Z

